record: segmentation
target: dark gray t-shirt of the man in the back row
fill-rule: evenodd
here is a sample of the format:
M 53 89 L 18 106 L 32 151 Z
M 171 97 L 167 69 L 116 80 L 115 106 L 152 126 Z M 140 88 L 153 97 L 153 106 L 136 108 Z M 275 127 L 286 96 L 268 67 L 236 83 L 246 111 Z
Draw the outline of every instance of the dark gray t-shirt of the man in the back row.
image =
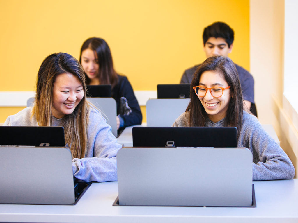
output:
M 193 74 L 200 65 L 201 64 L 195 65 L 194 67 L 185 70 L 182 75 L 180 84 L 191 83 L 191 81 L 193 80 Z M 239 75 L 243 99 L 254 103 L 254 78 L 243 67 L 240 67 L 237 64 L 235 64 L 235 66 Z

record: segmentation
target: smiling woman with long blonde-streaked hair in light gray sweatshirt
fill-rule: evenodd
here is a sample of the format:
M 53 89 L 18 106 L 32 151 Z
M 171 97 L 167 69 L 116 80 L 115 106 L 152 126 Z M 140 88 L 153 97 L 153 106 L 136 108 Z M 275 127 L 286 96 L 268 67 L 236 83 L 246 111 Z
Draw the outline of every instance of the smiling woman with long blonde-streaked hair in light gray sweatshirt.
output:
M 86 100 L 85 74 L 69 54 L 51 54 L 38 70 L 33 107 L 7 118 L 4 125 L 63 126 L 72 153 L 72 169 L 84 181 L 116 181 L 121 148 L 111 126 Z

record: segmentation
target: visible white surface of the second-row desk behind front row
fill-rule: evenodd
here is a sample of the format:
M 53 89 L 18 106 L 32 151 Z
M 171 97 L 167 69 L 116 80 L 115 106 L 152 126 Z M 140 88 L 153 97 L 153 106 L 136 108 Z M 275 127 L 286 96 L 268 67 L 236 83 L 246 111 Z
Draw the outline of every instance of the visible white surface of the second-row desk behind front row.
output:
M 117 141 L 119 144 L 124 145 L 126 147 L 131 147 L 132 145 L 132 128 L 135 126 L 146 126 L 147 123 L 142 123 L 142 125 L 133 125 L 126 127 L 123 132 L 120 134 L 120 136 L 117 138 Z M 262 125 L 266 132 L 277 142 L 278 145 L 280 145 L 280 141 L 275 133 L 275 130 L 272 125 Z

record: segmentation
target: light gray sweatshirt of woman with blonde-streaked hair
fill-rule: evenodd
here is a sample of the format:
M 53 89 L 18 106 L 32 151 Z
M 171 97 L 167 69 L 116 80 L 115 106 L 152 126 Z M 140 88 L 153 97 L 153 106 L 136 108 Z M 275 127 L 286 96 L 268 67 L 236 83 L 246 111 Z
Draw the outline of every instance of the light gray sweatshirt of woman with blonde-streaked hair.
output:
M 38 126 L 35 116 L 31 118 L 32 107 L 27 107 L 7 118 L 4 125 Z M 54 118 L 54 126 L 59 126 L 61 119 Z M 99 111 L 92 109 L 87 126 L 87 151 L 85 158 L 72 160 L 73 175 L 86 182 L 117 181 L 116 154 L 122 146 L 111 133 Z

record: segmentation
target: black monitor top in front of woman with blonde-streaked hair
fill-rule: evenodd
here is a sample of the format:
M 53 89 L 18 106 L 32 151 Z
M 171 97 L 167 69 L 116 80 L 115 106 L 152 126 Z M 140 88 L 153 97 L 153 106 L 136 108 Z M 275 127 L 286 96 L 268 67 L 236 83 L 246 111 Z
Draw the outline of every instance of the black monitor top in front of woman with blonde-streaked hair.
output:
M 0 136 L 3 146 L 65 146 L 61 126 L 0 126 Z

